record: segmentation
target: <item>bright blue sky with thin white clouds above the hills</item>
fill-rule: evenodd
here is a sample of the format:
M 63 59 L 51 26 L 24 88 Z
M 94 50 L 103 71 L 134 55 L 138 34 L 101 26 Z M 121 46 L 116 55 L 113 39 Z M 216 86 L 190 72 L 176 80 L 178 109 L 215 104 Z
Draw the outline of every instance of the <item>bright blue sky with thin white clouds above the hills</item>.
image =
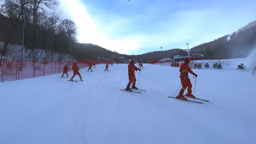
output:
M 256 20 L 255 7 L 255 0 L 61 0 L 79 42 L 128 55 L 193 48 L 232 34 Z

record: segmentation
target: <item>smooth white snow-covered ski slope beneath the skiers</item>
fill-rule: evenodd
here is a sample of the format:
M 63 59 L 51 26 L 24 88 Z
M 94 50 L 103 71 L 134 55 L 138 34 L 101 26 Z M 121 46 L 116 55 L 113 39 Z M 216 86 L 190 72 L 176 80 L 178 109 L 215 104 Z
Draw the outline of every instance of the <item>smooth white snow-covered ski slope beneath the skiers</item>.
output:
M 193 94 L 210 100 L 202 104 L 168 98 L 181 88 L 179 68 L 153 64 L 136 73 L 141 93 L 119 90 L 127 64 L 80 69 L 78 82 L 60 74 L 2 82 L 0 143 L 253 144 L 256 76 L 236 69 L 242 59 L 220 62 L 224 69 L 193 69 L 196 84 L 189 74 Z

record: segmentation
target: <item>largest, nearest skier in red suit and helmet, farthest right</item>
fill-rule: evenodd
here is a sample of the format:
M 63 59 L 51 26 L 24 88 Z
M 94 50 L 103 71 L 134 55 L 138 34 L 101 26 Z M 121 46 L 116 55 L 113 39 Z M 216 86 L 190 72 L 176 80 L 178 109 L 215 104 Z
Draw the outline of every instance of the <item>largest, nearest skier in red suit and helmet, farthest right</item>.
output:
M 190 58 L 186 57 L 184 59 L 184 64 L 182 64 L 179 68 L 179 72 L 180 72 L 179 77 L 180 77 L 180 80 L 181 80 L 182 88 L 179 91 L 179 95 L 176 96 L 176 97 L 180 98 L 180 99 L 186 99 L 183 96 L 183 93 L 184 93 L 184 91 L 186 90 L 187 87 L 188 87 L 188 96 L 195 97 L 192 94 L 192 84 L 191 84 L 190 79 L 188 78 L 188 72 L 191 73 L 192 75 L 196 76 L 196 77 L 197 77 L 197 75 L 191 70 L 191 68 L 188 65 L 188 63 L 190 61 L 191 61 Z

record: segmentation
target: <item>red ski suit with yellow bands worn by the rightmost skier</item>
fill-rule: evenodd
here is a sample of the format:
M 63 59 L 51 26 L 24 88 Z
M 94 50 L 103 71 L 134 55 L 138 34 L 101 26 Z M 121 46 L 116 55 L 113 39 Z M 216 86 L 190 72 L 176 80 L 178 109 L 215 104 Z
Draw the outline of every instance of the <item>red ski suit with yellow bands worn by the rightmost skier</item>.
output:
M 182 83 L 182 88 L 179 91 L 179 95 L 183 95 L 184 91 L 186 90 L 186 88 L 188 87 L 188 94 L 192 93 L 192 84 L 190 79 L 188 78 L 188 76 L 185 76 L 185 73 L 188 74 L 191 73 L 192 75 L 195 75 L 195 73 L 191 70 L 191 68 L 189 67 L 188 64 L 184 63 L 180 66 L 179 68 L 179 72 L 180 72 L 180 81 Z

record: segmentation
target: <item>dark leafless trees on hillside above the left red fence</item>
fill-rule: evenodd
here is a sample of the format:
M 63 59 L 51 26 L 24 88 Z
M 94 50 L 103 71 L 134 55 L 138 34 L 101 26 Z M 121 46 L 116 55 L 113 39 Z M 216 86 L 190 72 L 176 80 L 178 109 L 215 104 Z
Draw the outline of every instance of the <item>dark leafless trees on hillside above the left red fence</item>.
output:
M 34 52 L 32 60 L 37 60 L 41 50 L 46 61 L 52 51 L 59 53 L 59 61 L 66 54 L 86 60 L 108 58 L 113 53 L 98 45 L 79 43 L 76 23 L 62 19 L 61 14 L 59 0 L 0 0 L 0 41 L 4 42 L 0 64 L 10 44 L 22 45 L 23 39 L 25 52 Z

